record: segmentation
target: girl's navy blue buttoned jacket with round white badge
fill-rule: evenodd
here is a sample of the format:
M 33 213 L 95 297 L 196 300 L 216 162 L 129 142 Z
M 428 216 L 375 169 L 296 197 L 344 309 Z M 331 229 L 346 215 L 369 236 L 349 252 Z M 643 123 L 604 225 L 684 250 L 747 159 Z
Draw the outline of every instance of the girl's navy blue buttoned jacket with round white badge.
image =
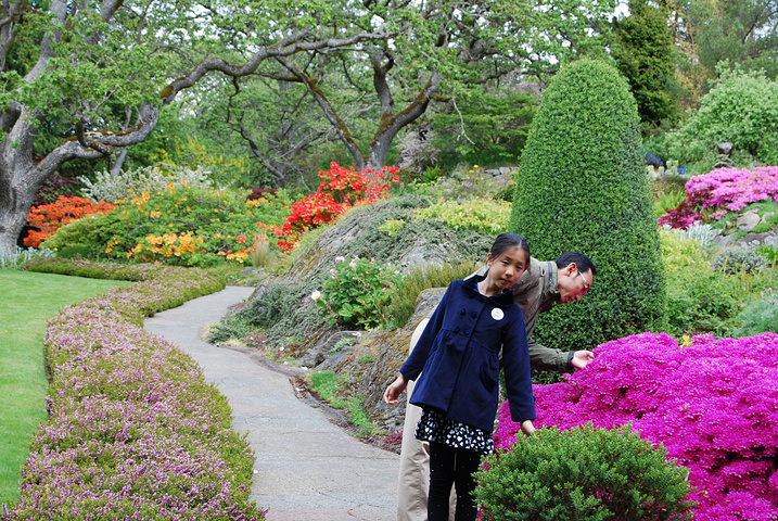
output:
M 535 419 L 524 317 L 510 290 L 484 296 L 482 276 L 455 280 L 399 369 L 416 380 L 410 403 L 492 433 L 499 399 L 499 358 L 513 421 Z

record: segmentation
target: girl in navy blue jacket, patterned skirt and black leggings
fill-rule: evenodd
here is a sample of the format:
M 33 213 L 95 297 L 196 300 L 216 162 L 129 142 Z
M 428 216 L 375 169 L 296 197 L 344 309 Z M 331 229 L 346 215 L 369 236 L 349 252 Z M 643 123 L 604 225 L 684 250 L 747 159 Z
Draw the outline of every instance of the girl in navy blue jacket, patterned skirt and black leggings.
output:
M 486 276 L 451 282 L 400 376 L 384 392 L 384 402 L 397 404 L 408 381 L 418 379 L 410 403 L 424 410 L 416 437 L 430 442 L 429 521 L 448 521 L 452 484 L 456 521 L 475 519 L 473 474 L 482 455 L 494 449 L 500 348 L 511 418 L 525 434 L 535 430 L 524 317 L 511 292 L 528 264 L 523 237 L 497 237 Z

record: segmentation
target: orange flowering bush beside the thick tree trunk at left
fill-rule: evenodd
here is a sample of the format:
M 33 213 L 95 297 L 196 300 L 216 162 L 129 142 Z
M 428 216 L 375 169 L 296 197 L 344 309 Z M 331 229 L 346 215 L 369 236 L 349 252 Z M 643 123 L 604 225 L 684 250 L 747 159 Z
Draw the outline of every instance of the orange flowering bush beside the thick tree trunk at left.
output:
M 93 203 L 85 198 L 60 195 L 55 202 L 41 204 L 29 211 L 27 225 L 31 229 L 24 238 L 24 243 L 29 247 L 39 247 L 40 243 L 62 225 L 98 212 L 107 214 L 113 208 L 113 204 L 104 201 Z

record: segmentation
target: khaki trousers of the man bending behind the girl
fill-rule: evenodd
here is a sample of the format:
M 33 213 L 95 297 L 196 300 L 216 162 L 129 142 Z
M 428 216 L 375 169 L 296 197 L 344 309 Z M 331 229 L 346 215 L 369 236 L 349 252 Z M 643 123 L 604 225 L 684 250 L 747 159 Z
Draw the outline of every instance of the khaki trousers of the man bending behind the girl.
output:
M 417 326 L 410 339 L 413 351 L 419 336 L 429 320 Z M 408 382 L 406 396 L 413 392 L 413 382 Z M 406 398 L 407 399 L 407 398 Z M 430 444 L 416 439 L 416 425 L 421 418 L 421 407 L 406 404 L 403 425 L 403 446 L 399 455 L 399 481 L 397 483 L 397 521 L 426 521 L 426 496 L 430 492 Z M 451 487 L 449 519 L 454 520 L 457 494 Z

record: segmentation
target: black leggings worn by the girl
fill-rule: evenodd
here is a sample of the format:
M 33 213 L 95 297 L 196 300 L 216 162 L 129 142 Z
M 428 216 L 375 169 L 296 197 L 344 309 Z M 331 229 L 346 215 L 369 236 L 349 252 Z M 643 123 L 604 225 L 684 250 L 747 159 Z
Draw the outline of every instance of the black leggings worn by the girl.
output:
M 451 448 L 443 443 L 430 442 L 430 497 L 426 503 L 428 521 L 448 521 L 448 498 L 451 485 L 457 485 L 457 513 L 455 521 L 475 519 L 475 476 L 481 453 Z

